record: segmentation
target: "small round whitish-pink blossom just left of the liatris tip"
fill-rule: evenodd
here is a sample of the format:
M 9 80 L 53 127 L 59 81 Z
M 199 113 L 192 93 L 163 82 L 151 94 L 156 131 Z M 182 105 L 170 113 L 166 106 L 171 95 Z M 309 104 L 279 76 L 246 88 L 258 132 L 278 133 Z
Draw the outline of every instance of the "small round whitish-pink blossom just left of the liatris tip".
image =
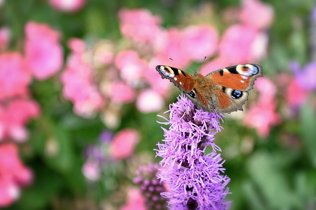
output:
M 136 108 L 142 113 L 150 113 L 161 110 L 165 105 L 165 101 L 154 90 L 142 90 L 136 100 Z

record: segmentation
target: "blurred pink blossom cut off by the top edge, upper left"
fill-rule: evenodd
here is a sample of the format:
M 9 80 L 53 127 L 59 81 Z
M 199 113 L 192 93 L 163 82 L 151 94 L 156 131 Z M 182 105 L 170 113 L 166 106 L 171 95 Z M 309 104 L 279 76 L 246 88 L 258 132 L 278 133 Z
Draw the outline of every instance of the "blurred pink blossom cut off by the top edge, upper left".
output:
M 52 7 L 65 12 L 76 12 L 85 5 L 85 0 L 49 0 Z

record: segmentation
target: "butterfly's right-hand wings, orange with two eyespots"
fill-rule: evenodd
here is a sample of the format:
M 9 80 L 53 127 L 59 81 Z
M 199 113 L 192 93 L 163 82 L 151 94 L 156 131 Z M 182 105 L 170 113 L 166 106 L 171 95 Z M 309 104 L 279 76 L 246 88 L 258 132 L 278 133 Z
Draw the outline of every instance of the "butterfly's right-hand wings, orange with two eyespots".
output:
M 216 111 L 231 113 L 242 110 L 242 105 L 248 99 L 248 91 L 260 76 L 262 66 L 257 64 L 230 66 L 206 75 Z

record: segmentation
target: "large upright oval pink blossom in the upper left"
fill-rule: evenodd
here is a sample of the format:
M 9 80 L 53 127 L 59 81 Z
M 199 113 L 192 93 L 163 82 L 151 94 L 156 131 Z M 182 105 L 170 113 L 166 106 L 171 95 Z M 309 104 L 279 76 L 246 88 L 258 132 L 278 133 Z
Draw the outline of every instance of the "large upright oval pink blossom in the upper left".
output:
M 46 24 L 27 23 L 25 56 L 28 67 L 37 79 L 55 74 L 63 64 L 63 49 L 59 33 Z

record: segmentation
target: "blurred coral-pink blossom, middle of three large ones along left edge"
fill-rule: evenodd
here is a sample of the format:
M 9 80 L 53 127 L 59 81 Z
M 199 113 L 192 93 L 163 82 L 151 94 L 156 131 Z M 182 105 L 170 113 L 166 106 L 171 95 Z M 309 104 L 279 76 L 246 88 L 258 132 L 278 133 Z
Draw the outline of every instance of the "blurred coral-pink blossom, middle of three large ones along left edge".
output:
M 12 137 L 16 141 L 23 142 L 28 137 L 24 127 L 30 118 L 40 114 L 39 105 L 31 100 L 15 99 L 7 106 L 0 106 L 0 141 L 6 137 Z

